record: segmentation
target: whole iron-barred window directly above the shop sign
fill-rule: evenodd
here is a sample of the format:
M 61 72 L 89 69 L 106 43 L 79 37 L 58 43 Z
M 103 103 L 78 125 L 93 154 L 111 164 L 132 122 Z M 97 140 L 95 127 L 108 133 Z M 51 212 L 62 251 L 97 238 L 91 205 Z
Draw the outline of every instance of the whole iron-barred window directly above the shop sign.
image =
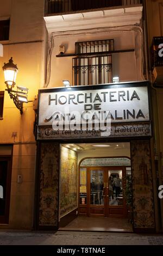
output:
M 112 82 L 114 39 L 76 42 L 73 58 L 73 85 L 85 86 Z

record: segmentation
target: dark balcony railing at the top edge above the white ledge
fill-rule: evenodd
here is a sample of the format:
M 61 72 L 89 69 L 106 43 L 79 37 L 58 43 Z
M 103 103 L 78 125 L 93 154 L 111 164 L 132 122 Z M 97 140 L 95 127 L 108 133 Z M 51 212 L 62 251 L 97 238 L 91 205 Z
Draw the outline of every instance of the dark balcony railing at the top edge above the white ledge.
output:
M 142 4 L 142 0 L 46 0 L 45 15 Z

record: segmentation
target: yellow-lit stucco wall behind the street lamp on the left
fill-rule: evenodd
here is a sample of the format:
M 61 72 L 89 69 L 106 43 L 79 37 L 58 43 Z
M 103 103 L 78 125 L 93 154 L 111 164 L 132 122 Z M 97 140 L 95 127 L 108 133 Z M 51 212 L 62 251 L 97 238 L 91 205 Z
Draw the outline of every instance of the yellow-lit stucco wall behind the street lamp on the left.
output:
M 4 94 L 3 119 L 0 120 L 0 144 L 14 144 L 12 158 L 9 225 L 0 228 L 31 229 L 33 224 L 35 182 L 35 112 L 33 100 L 44 83 L 45 76 L 45 25 L 43 0 L 0 0 L 0 19 L 10 18 L 8 41 L 3 44 L 0 58 L 0 90 L 5 90 L 2 66 L 10 57 L 17 64 L 16 85 L 29 89 L 28 103 L 23 114 L 14 105 L 8 92 Z M 16 86 L 14 87 L 16 90 Z M 12 137 L 17 132 L 17 137 Z M 1 155 L 1 152 L 0 152 Z M 22 183 L 17 183 L 17 175 Z

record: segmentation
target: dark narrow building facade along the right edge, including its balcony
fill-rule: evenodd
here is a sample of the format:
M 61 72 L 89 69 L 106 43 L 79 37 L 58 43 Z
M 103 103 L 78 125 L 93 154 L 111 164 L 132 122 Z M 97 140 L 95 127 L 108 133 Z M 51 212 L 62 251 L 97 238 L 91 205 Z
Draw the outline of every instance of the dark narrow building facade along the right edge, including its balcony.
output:
M 148 70 L 149 80 L 153 87 L 153 120 L 154 120 L 154 154 L 155 154 L 155 173 L 157 176 L 156 187 L 162 184 L 162 1 L 146 1 L 146 23 L 147 23 L 147 42 L 148 42 Z M 158 214 L 160 220 L 162 216 L 162 200 L 158 201 Z

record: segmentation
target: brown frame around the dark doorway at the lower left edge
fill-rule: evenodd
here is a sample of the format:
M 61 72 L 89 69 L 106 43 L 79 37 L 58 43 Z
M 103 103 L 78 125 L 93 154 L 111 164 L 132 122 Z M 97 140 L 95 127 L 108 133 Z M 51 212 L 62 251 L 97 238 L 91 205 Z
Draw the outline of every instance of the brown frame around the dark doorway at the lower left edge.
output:
M 10 211 L 10 193 L 11 193 L 11 171 L 12 171 L 12 158 L 11 156 L 0 156 L 1 161 L 7 161 L 7 187 L 5 197 L 5 215 L 0 216 L 0 224 L 9 224 L 9 211 Z

